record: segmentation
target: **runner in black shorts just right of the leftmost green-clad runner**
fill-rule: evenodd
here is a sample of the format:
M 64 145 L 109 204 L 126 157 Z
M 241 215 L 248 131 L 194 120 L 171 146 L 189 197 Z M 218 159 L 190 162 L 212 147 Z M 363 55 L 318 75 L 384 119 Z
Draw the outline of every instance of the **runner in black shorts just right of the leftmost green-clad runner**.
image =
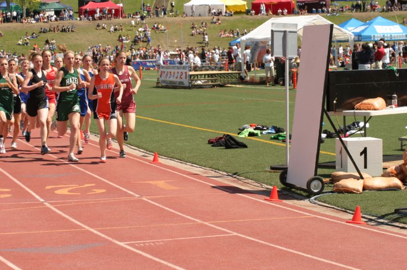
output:
M 14 59 L 9 60 L 9 74 L 13 74 L 16 76 L 17 79 L 17 87 L 18 85 L 21 85 L 23 82 L 23 78 L 16 74 L 17 70 L 17 63 Z M 21 121 L 21 99 L 19 95 L 14 94 L 13 95 L 13 103 L 14 103 L 14 108 L 13 108 L 13 117 L 10 122 L 10 127 L 11 125 L 14 125 L 13 129 L 13 139 L 11 140 L 11 148 L 17 148 L 17 136 L 18 136 L 18 130 L 20 126 L 20 121 Z

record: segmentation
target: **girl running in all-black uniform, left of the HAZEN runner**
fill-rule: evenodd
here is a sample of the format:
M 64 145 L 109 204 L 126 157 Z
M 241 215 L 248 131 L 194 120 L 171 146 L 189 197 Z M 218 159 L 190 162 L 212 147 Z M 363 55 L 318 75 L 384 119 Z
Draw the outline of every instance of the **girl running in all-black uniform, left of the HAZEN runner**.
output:
M 32 56 L 34 68 L 27 72 L 24 78 L 21 89 L 29 92 L 30 98 L 27 100 L 26 110 L 30 125 L 25 132 L 25 140 L 31 140 L 31 131 L 35 128 L 36 121 L 40 124 L 41 134 L 41 155 L 48 154 L 50 149 L 47 146 L 47 116 L 48 116 L 48 100 L 45 96 L 45 88 L 49 88 L 47 83 L 47 74 L 42 68 L 42 56 L 39 53 L 34 53 Z M 31 81 L 31 85 L 28 83 Z M 38 119 L 37 119 L 38 115 Z

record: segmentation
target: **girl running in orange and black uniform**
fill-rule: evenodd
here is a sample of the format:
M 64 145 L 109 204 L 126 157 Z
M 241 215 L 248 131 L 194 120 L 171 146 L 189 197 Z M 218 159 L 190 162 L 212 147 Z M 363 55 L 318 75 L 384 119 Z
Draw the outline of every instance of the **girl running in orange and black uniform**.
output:
M 99 61 L 99 74 L 91 79 L 89 89 L 94 89 L 93 93 L 89 91 L 88 97 L 94 100 L 94 118 L 99 129 L 100 162 L 106 162 L 106 147 L 111 149 L 111 139 L 114 138 L 117 131 L 116 104 L 121 103 L 123 86 L 117 75 L 109 73 L 110 61 L 102 58 Z M 117 85 L 118 87 L 114 87 Z M 118 92 L 114 99 L 114 92 Z M 109 123 L 109 131 L 106 135 L 104 121 Z

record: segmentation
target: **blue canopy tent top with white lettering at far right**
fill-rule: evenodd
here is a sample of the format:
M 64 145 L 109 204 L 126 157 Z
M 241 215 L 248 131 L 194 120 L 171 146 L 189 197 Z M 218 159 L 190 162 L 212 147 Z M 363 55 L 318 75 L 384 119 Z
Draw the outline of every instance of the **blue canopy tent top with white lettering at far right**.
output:
M 355 41 L 407 40 L 407 27 L 383 17 L 376 17 L 352 31 Z

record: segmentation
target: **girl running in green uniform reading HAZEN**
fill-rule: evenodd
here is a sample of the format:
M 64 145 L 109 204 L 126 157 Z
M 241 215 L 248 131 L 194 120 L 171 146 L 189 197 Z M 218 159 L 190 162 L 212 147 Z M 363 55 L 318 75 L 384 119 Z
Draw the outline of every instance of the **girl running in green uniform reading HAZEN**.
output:
M 75 54 L 72 51 L 64 53 L 65 67 L 56 74 L 52 92 L 59 93 L 56 103 L 56 121 L 59 135 L 64 135 L 69 126 L 71 135 L 69 139 L 68 161 L 78 162 L 74 156 L 75 144 L 78 139 L 79 130 L 79 97 L 77 88 L 85 87 L 80 79 L 78 70 L 73 67 Z

